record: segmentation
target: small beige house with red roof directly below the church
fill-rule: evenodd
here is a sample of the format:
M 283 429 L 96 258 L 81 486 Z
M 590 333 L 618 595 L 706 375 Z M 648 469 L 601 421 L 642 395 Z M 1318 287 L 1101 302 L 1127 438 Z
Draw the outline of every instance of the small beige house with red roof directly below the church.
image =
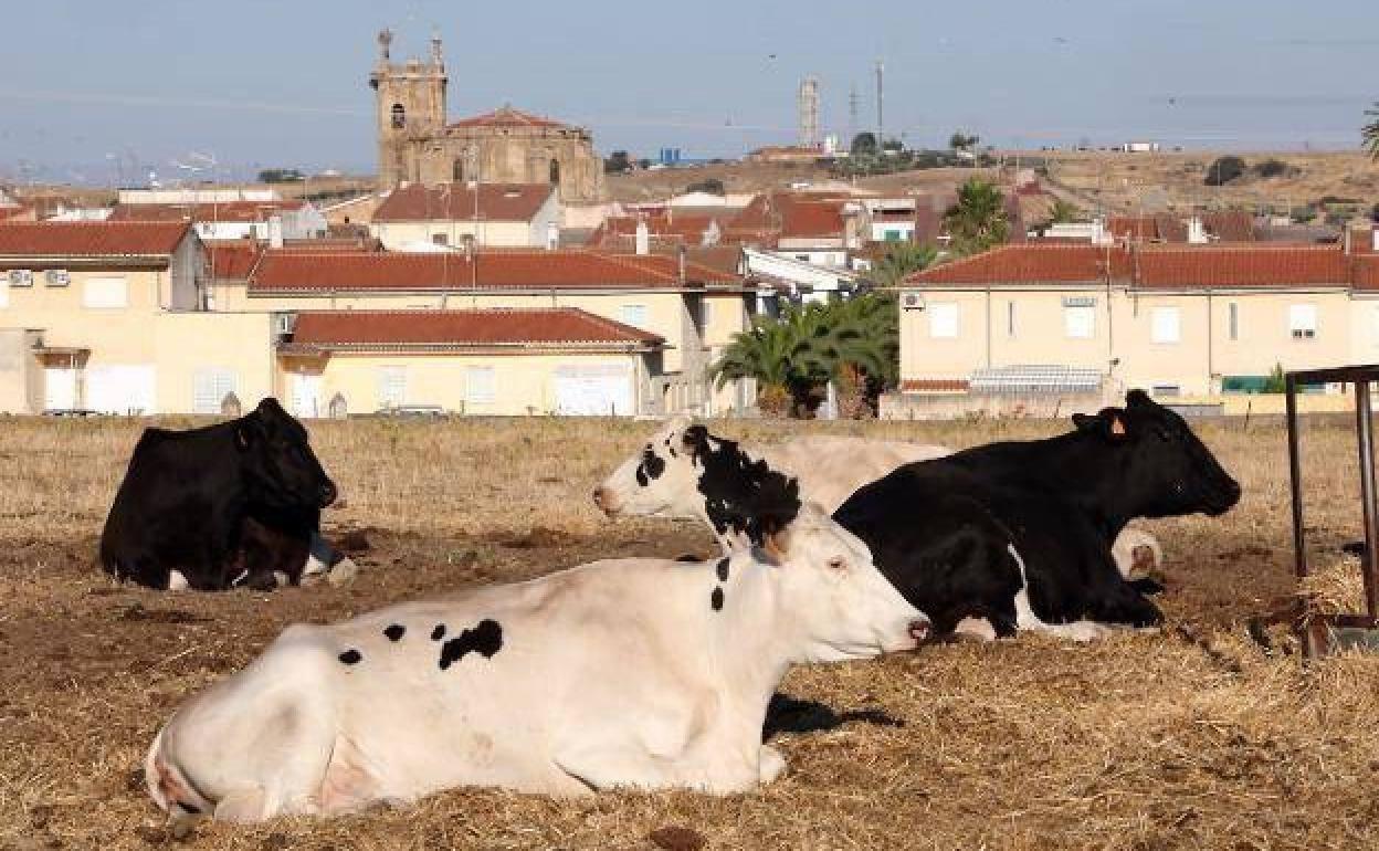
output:
M 410 183 L 387 193 L 370 232 L 389 251 L 554 248 L 560 200 L 549 183 Z

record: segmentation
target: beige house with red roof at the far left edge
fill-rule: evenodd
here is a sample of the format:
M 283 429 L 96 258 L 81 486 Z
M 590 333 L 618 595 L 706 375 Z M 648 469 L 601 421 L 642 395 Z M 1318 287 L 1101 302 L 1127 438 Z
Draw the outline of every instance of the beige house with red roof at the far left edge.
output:
M 0 225 L 0 411 L 219 412 L 273 392 L 266 314 L 205 312 L 182 223 Z

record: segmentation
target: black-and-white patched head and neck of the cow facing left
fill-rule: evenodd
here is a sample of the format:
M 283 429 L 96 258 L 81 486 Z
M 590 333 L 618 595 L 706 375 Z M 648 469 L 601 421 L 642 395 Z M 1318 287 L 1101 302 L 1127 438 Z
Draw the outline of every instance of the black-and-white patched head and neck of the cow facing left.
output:
M 652 434 L 593 497 L 610 517 L 698 517 L 725 543 L 761 543 L 763 532 L 783 527 L 800 509 L 793 477 L 683 417 Z

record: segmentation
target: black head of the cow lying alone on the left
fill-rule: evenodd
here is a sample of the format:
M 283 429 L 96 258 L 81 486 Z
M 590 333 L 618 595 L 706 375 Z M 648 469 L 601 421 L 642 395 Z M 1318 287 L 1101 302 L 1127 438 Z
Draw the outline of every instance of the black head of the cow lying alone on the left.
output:
M 265 399 L 232 425 L 251 499 L 295 510 L 335 502 L 335 483 L 321 469 L 306 429 L 276 399 Z

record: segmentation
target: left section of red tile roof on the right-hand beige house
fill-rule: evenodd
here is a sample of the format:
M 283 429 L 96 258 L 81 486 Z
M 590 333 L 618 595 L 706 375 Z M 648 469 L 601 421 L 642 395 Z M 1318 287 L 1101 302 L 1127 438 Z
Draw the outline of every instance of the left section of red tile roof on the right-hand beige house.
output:
M 1092 284 L 1125 279 L 1125 248 L 1098 246 L 1001 246 L 950 263 L 931 266 L 906 279 L 913 286 L 934 284 Z

